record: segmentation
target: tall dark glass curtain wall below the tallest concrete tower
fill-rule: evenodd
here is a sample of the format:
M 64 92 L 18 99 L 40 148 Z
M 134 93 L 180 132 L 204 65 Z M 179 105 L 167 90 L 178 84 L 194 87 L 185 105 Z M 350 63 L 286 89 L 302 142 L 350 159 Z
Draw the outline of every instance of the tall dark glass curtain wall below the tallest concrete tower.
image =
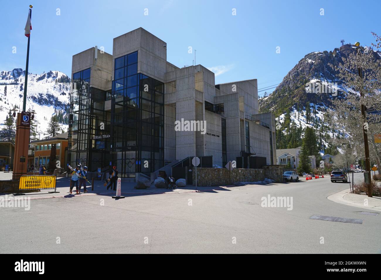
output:
M 113 165 L 121 177 L 164 164 L 164 84 L 138 73 L 138 52 L 115 59 L 111 99 Z

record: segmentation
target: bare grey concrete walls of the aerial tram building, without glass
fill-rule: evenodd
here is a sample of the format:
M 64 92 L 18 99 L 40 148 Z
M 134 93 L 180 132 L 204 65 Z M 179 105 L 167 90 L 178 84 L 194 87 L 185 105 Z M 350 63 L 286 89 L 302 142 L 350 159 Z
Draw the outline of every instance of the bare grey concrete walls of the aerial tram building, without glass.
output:
M 258 114 L 257 80 L 216 85 L 215 74 L 206 67 L 176 67 L 166 61 L 166 50 L 166 42 L 142 28 L 123 34 L 114 38 L 112 58 L 110 54 L 98 55 L 98 59 L 104 57 L 98 62 L 102 70 L 91 70 L 96 80 L 90 83 L 111 90 L 115 59 L 137 51 L 138 73 L 164 83 L 163 163 L 213 155 L 213 164 L 223 166 L 242 155 L 256 155 L 265 157 L 269 165 L 275 164 L 275 118 L 269 113 Z M 73 56 L 73 74 L 88 67 L 95 70 L 93 55 L 90 49 Z M 105 101 L 105 110 L 111 102 Z M 176 131 L 175 122 L 182 119 L 206 121 L 206 133 Z

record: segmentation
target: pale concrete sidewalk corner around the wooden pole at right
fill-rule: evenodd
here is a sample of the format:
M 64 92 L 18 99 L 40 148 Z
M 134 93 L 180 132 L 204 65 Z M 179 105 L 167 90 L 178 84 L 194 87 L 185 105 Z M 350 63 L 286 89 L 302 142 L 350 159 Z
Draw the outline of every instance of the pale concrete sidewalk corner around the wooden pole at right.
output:
M 366 210 L 381 211 L 381 197 L 368 197 L 362 194 L 352 194 L 350 189 L 342 190 L 327 197 L 329 200 L 349 206 L 363 208 Z M 368 205 L 364 205 L 364 200 L 368 200 Z

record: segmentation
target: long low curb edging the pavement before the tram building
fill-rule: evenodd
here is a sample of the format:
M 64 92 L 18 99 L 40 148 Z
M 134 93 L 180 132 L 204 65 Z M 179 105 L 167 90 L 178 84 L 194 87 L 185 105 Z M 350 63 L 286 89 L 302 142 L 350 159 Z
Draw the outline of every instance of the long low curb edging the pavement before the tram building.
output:
M 228 185 L 228 186 L 222 186 L 222 187 L 215 187 L 214 189 L 206 189 L 206 190 L 189 190 L 184 192 L 122 192 L 122 194 L 128 194 L 128 195 L 149 195 L 149 194 L 186 194 L 186 193 L 192 193 L 192 192 L 210 192 L 212 190 L 218 190 L 218 189 L 227 189 L 228 187 L 236 187 L 235 185 Z M 110 192 L 91 192 L 87 194 L 66 194 L 66 195 L 49 195 L 44 197 L 28 197 L 30 200 L 38 200 L 38 199 L 48 199 L 48 198 L 72 198 L 77 196 L 88 196 L 88 195 L 112 195 Z M 8 197 L 9 200 L 14 200 L 22 197 Z M 25 197 L 24 197 L 25 198 Z

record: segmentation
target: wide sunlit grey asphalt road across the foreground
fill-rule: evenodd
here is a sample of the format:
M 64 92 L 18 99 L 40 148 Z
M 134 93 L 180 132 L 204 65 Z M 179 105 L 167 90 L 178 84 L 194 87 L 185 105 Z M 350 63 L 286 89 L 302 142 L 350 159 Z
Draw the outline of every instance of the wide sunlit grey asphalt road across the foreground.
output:
M 381 214 L 361 215 L 366 210 L 327 199 L 347 188 L 320 178 L 117 201 L 101 195 L 31 200 L 29 211 L 0 208 L 1 252 L 381 253 Z M 292 197 L 293 209 L 262 207 L 267 195 Z M 314 214 L 364 221 L 309 219 Z

